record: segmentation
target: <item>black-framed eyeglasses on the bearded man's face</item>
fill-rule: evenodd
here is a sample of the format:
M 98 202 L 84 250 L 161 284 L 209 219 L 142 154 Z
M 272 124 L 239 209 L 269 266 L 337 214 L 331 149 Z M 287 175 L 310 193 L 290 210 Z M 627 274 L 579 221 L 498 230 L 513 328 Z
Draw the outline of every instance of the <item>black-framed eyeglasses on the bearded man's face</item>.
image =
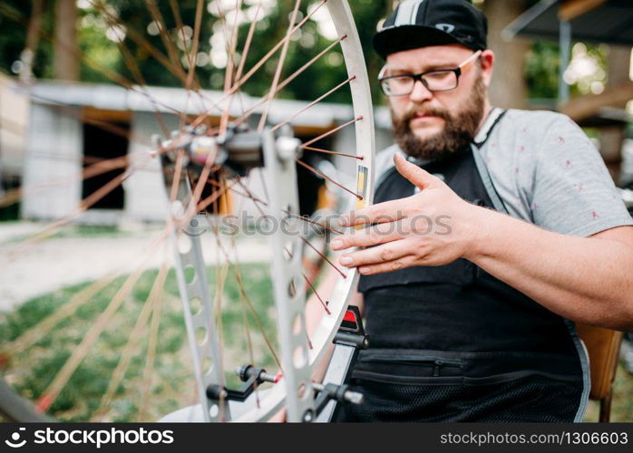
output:
M 457 66 L 451 69 L 435 69 L 433 71 L 420 72 L 419 74 L 388 75 L 385 77 L 387 67 L 378 74 L 380 88 L 387 96 L 407 96 L 414 91 L 415 82 L 420 81 L 429 92 L 448 92 L 454 90 L 459 84 L 460 75 L 466 72 L 468 66 L 473 63 L 482 51 L 472 53 L 472 55 Z

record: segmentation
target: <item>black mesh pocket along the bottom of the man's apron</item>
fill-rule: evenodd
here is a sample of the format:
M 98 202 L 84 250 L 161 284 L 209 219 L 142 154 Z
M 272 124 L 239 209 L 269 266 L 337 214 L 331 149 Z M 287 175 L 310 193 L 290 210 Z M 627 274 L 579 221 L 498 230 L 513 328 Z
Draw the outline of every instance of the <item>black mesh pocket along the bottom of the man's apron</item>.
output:
M 344 405 L 339 421 L 571 422 L 582 382 L 541 374 L 486 378 L 396 376 L 355 371 L 360 405 Z

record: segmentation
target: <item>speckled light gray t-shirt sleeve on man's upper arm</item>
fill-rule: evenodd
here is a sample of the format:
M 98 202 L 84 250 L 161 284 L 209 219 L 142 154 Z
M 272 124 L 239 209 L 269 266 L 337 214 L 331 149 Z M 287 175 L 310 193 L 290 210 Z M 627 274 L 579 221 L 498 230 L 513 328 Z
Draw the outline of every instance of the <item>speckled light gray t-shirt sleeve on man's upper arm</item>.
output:
M 536 225 L 565 235 L 633 225 L 598 150 L 564 115 L 556 115 L 542 137 L 531 211 Z

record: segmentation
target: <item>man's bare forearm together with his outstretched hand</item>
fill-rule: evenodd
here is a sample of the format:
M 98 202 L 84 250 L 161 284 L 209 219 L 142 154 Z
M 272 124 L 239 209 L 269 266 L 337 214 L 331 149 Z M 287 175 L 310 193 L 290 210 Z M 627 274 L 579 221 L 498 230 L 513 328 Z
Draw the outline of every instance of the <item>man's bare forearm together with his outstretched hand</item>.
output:
M 633 329 L 633 227 L 611 228 L 590 238 L 551 233 L 464 201 L 443 180 L 398 154 L 394 164 L 419 193 L 343 217 L 343 226 L 369 227 L 332 241 L 337 251 L 367 247 L 344 253 L 340 265 L 375 275 L 464 257 L 554 313 Z M 429 232 L 428 221 L 414 221 L 439 216 L 453 219 L 450 234 Z M 394 231 L 394 224 L 404 231 Z

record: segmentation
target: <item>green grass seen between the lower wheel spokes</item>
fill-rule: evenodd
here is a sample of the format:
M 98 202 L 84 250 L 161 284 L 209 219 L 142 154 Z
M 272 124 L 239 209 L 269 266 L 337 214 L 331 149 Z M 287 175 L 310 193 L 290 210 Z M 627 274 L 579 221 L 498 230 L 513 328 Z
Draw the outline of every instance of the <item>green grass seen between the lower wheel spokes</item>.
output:
M 241 265 L 241 275 L 246 286 L 248 299 L 254 305 L 264 330 L 274 334 L 272 319 L 271 284 L 268 268 L 264 265 Z M 99 409 L 102 395 L 111 381 L 122 350 L 129 339 L 131 329 L 148 298 L 158 271 L 148 271 L 141 276 L 130 296 L 112 317 L 108 328 L 91 348 L 91 352 L 73 373 L 60 396 L 54 401 L 49 413 L 60 419 L 72 421 L 93 419 Z M 211 292 L 215 286 L 215 268 L 209 269 Z M 4 351 L 9 357 L 3 373 L 5 380 L 14 385 L 25 397 L 37 400 L 53 381 L 57 371 L 82 341 L 85 333 L 93 325 L 97 316 L 110 303 L 124 278 L 114 281 L 91 301 L 77 310 L 72 317 L 57 324 L 29 350 L 15 356 Z M 81 291 L 89 283 L 63 288 L 52 294 L 34 298 L 20 305 L 14 312 L 0 315 L 0 344 L 7 344 L 20 333 L 43 320 L 66 303 L 73 294 Z M 232 370 L 249 362 L 244 324 L 244 303 L 239 295 L 239 285 L 229 271 L 222 301 L 222 338 L 225 343 L 225 368 L 230 386 L 238 386 L 239 380 Z M 258 365 L 276 371 L 272 355 L 268 352 L 261 333 L 255 327 L 252 314 L 248 313 L 249 333 L 253 343 L 254 357 Z M 116 397 L 103 419 L 112 421 L 135 421 L 141 405 L 143 388 L 142 373 L 147 356 L 149 323 L 142 341 L 136 345 L 136 355 L 132 358 L 125 379 L 117 389 Z M 275 342 L 274 338 L 272 339 Z M 151 410 L 149 419 L 158 419 L 196 401 L 191 374 L 191 361 L 184 320 L 178 297 L 175 275 L 167 277 L 162 296 L 161 324 L 157 359 L 152 378 Z M 101 417 L 101 413 L 100 413 Z

